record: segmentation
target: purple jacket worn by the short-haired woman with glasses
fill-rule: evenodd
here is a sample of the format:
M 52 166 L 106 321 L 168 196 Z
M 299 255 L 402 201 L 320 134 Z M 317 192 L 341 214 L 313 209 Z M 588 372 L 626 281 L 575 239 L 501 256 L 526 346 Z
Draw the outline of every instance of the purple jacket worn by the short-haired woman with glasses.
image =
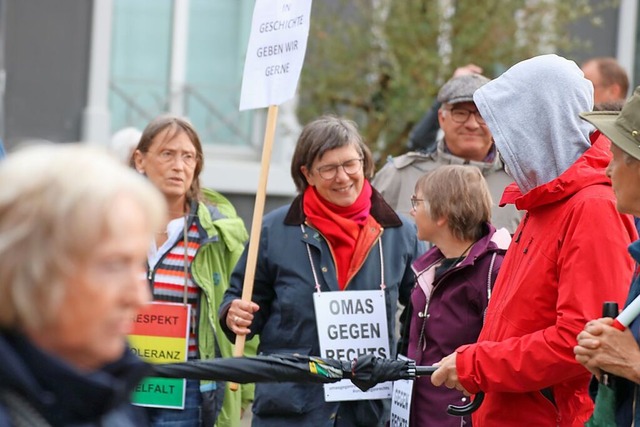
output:
M 506 229 L 496 231 L 487 224 L 487 234 L 467 257 L 435 282 L 435 269 L 443 259 L 437 247 L 413 262 L 417 280 L 411 292 L 408 357 L 417 365 L 437 363 L 460 345 L 477 340 L 490 289 L 510 241 Z M 411 426 L 461 426 L 463 420 L 447 414 L 446 409 L 466 403 L 461 392 L 434 387 L 429 377 L 418 378 L 413 384 Z M 464 422 L 470 426 L 471 417 Z

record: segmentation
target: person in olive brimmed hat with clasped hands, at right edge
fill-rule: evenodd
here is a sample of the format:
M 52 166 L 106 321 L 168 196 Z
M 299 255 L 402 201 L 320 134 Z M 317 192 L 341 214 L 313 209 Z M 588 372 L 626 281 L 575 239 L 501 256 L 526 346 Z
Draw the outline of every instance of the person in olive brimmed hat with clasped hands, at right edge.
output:
M 600 111 L 580 116 L 612 142 L 613 158 L 607 167 L 607 176 L 613 183 L 618 211 L 640 216 L 640 86 L 621 112 Z M 640 240 L 629 245 L 629 253 L 636 263 L 640 263 Z M 636 274 L 627 304 L 638 295 L 640 275 Z M 615 423 L 618 426 L 640 425 L 640 318 L 622 332 L 612 327 L 612 323 L 611 318 L 588 322 L 578 334 L 574 353 L 576 360 L 597 378 L 603 371 L 621 377 L 613 383 Z M 606 413 L 598 411 L 598 406 L 596 401 L 594 417 Z

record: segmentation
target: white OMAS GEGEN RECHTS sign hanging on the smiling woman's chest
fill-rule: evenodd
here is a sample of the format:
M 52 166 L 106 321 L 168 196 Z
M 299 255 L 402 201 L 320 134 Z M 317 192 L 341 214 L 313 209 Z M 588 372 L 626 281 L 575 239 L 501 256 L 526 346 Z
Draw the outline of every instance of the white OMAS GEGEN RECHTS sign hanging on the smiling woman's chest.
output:
M 389 329 L 384 291 L 313 294 L 322 357 L 353 360 L 365 354 L 389 358 Z M 325 401 L 388 399 L 391 382 L 363 392 L 350 380 L 324 385 Z

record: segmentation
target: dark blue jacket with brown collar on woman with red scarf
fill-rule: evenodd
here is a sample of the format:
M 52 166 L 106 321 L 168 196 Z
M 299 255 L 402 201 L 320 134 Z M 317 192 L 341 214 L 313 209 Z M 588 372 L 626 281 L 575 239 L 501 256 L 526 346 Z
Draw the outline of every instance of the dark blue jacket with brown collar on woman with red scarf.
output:
M 373 192 L 371 215 L 383 227 L 380 237 L 384 254 L 387 323 L 393 349 L 395 313 L 400 299 L 407 302 L 413 286 L 411 263 L 422 253 L 415 226 L 401 219 L 379 193 Z M 304 225 L 305 231 L 302 230 Z M 308 246 L 307 246 L 308 245 Z M 260 335 L 263 354 L 299 353 L 320 356 L 313 305 L 314 278 L 311 253 L 322 292 L 339 291 L 336 269 L 327 242 L 305 224 L 302 197 L 291 206 L 265 216 L 260 235 L 253 301 L 260 306 L 251 332 Z M 220 323 L 231 339 L 225 316 L 232 300 L 242 294 L 247 253 L 231 277 L 220 313 Z M 379 244 L 370 249 L 362 268 L 347 284 L 346 291 L 379 289 L 381 283 Z M 257 384 L 253 403 L 254 426 L 368 426 L 383 422 L 380 401 L 324 401 L 321 384 Z

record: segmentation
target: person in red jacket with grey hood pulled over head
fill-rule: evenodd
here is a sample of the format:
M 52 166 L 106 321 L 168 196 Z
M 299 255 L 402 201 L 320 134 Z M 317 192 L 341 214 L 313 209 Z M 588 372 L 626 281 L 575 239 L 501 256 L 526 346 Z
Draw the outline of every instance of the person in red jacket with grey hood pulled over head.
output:
M 573 61 L 541 55 L 481 87 L 474 102 L 518 186 L 508 201 L 527 213 L 478 343 L 443 359 L 431 380 L 485 392 L 476 427 L 583 426 L 593 403 L 576 335 L 604 301 L 624 302 L 636 236 L 605 176 L 609 140 L 579 116 L 593 107 L 593 85 Z

